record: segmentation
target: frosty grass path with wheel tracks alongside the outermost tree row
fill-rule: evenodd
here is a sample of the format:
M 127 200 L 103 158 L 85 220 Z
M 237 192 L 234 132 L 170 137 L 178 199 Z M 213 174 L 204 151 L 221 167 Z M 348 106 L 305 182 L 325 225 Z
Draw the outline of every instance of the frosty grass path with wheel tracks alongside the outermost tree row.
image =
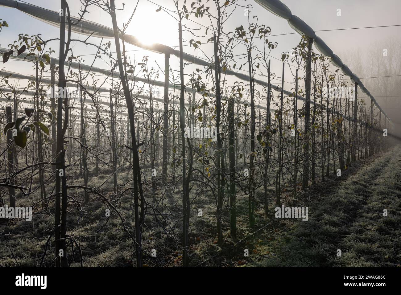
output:
M 273 253 L 255 264 L 399 267 L 401 147 L 357 165 L 329 194 L 314 198 L 311 192 L 303 205 L 309 207 L 309 220 L 286 220 L 283 234 L 270 245 Z

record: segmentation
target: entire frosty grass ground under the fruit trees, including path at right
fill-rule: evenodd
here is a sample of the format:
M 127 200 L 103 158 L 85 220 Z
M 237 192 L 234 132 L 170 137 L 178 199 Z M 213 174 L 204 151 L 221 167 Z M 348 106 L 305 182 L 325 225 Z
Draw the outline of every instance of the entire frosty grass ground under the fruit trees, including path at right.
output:
M 248 196 L 237 195 L 237 239 L 229 232 L 229 215 L 223 218 L 225 243 L 217 245 L 216 205 L 213 192 L 201 190 L 191 195 L 190 214 L 190 266 L 397 266 L 400 264 L 401 240 L 401 148 L 375 155 L 361 161 L 342 173 L 332 176 L 322 184 L 310 187 L 308 192 L 298 193 L 297 200 L 284 189 L 282 204 L 308 206 L 309 220 L 274 218 L 274 188 L 269 188 L 269 217 L 263 209 L 263 188 L 256 191 L 256 224 L 248 226 Z M 134 234 L 132 196 L 124 194 L 115 198 L 112 179 L 104 174 L 89 178 L 89 186 L 101 186 L 101 193 L 113 199 L 124 225 Z M 118 176 L 118 184 L 130 179 L 127 171 Z M 71 178 L 69 184 L 81 184 L 82 179 Z M 128 184 L 129 186 L 130 184 Z M 49 187 L 48 190 L 51 188 Z M 162 194 L 145 187 L 146 200 L 164 212 L 157 215 L 149 208 L 145 216 L 142 247 L 147 266 L 178 267 L 182 265 L 182 210 L 181 196 L 177 189 Z M 40 192 L 29 198 L 19 198 L 17 206 L 32 206 Z M 81 247 L 84 267 L 128 267 L 135 265 L 134 242 L 124 232 L 122 222 L 115 212 L 109 220 L 105 217 L 107 206 L 91 195 L 89 204 L 83 203 L 82 190 L 69 190 L 69 196 L 82 203 L 82 210 L 69 200 L 67 232 Z M 227 195 L 226 195 L 227 198 Z M 227 202 L 227 200 L 226 200 Z M 53 201 L 50 208 L 53 208 Z M 0 265 L 52 266 L 54 236 L 43 257 L 47 239 L 54 225 L 53 209 L 34 210 L 34 221 L 0 220 Z M 203 216 L 198 216 L 198 209 Z M 388 216 L 383 217 L 383 209 Z M 166 228 L 171 228 L 166 235 Z M 156 257 L 150 255 L 156 249 Z M 337 257 L 341 249 L 341 257 Z M 249 251 L 249 257 L 244 251 Z M 80 266 L 78 249 L 75 256 L 68 247 L 72 267 Z

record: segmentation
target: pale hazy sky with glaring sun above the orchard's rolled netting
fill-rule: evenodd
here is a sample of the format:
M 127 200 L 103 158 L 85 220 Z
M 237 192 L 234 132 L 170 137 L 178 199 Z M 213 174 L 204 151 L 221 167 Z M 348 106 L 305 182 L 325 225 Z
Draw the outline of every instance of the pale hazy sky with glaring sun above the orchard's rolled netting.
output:
M 54 0 L 26 0 L 26 2 L 50 10 L 58 10 L 60 5 L 60 1 Z M 81 5 L 80 2 L 78 0 L 69 0 L 68 2 L 70 4 L 72 14 L 77 16 L 79 13 L 79 6 Z M 120 26 L 123 22 L 128 20 L 137 1 L 117 0 L 116 5 L 120 5 L 120 7 L 122 7 L 121 4 L 123 2 L 126 4 L 124 11 L 117 13 L 117 21 Z M 153 2 L 162 6 L 166 6 L 172 10 L 174 9 L 171 0 L 153 0 Z M 183 3 L 184 1 L 181 2 Z M 188 7 L 190 7 L 191 2 L 192 1 L 187 2 Z M 205 2 L 206 6 L 213 6 L 211 1 L 208 3 L 206 3 L 206 1 L 203 2 Z M 401 24 L 399 17 L 399 13 L 401 11 L 400 0 L 282 0 L 282 2 L 290 8 L 292 14 L 299 16 L 315 31 Z M 240 3 L 244 6 L 247 4 L 251 5 L 252 8 L 250 16 L 257 15 L 259 18 L 259 24 L 266 24 L 269 26 L 271 28 L 272 35 L 294 32 L 286 20 L 267 12 L 253 0 L 241 0 Z M 141 40 L 144 40 L 144 42 L 158 42 L 169 46 L 177 46 L 177 22 L 163 11 L 156 12 L 155 10 L 157 8 L 158 5 L 152 4 L 147 0 L 140 0 L 136 15 L 134 16 L 127 33 L 137 36 Z M 245 8 L 241 7 L 236 8 L 234 14 L 229 19 L 229 22 L 225 24 L 226 32 L 234 31 L 235 28 L 241 24 L 244 25 L 244 27 L 246 26 L 248 18 L 245 16 L 244 9 Z M 337 16 L 337 9 L 341 9 L 341 16 Z M 89 12 L 89 14 L 85 14 L 86 19 L 111 27 L 111 19 L 106 12 L 103 12 L 100 8 L 94 7 L 90 7 Z M 2 47 L 7 47 L 9 43 L 16 40 L 18 38 L 18 33 L 29 35 L 41 33 L 44 39 L 57 38 L 59 35 L 58 28 L 50 26 L 44 22 L 41 22 L 40 20 L 36 20 L 35 18 L 32 18 L 31 16 L 26 15 L 14 8 L 0 7 L 0 17 L 3 20 L 6 20 L 10 26 L 9 28 L 3 28 L 0 34 L 0 44 Z M 200 24 L 210 24 L 209 20 L 206 18 L 199 19 L 194 18 L 194 16 L 191 16 L 191 18 Z M 205 28 L 201 27 L 199 24 L 191 21 L 186 21 L 186 24 L 188 24 L 188 26 L 191 28 L 201 28 L 200 30 L 196 31 L 196 34 L 202 36 L 205 35 Z M 375 42 L 381 42 L 382 40 L 389 38 L 399 39 L 400 32 L 401 27 L 387 27 L 317 32 L 316 34 L 320 36 L 320 38 L 322 38 L 324 42 L 326 42 L 326 44 L 334 51 L 334 53 L 343 59 L 343 61 L 349 61 L 349 57 L 346 56 L 348 53 L 358 51 L 361 55 L 366 55 L 371 44 Z M 207 38 L 210 38 L 210 31 L 208 34 L 209 36 L 205 38 L 195 38 L 195 40 L 200 39 L 202 41 L 206 41 Z M 77 34 L 73 34 L 72 37 L 79 38 L 80 40 L 86 38 Z M 185 44 L 188 44 L 188 41 L 194 37 L 190 36 L 189 34 L 184 34 L 184 38 L 186 39 Z M 300 35 L 289 34 L 283 36 L 272 36 L 269 38 L 269 40 L 279 43 L 279 46 L 271 53 L 271 62 L 273 72 L 275 72 L 278 77 L 281 77 L 281 53 L 290 51 L 291 48 L 296 46 L 300 40 Z M 99 44 L 100 39 L 90 38 L 89 41 Z M 108 40 L 105 40 L 104 42 L 106 41 Z M 53 42 L 51 47 L 56 51 L 54 56 L 58 57 L 58 42 Z M 85 63 L 88 64 L 92 62 L 93 55 L 91 54 L 95 53 L 93 47 L 86 47 L 80 42 L 73 42 L 72 48 L 75 55 L 87 54 L 85 57 Z M 203 48 L 207 55 L 211 57 L 213 44 L 205 44 L 203 45 Z M 157 61 L 159 65 L 164 64 L 163 55 L 140 50 L 140 48 L 132 45 L 128 45 L 127 49 L 133 50 L 130 53 L 130 57 L 132 59 L 135 57 L 137 61 L 140 61 L 144 55 L 148 55 L 150 62 L 154 67 L 158 67 L 155 61 Z M 190 48 L 189 46 L 184 47 L 184 51 L 190 54 L 196 54 L 193 52 L 193 48 Z M 243 52 L 245 52 L 244 46 L 242 48 L 237 48 L 237 54 Z M 174 69 L 178 69 L 178 59 L 172 57 L 170 60 L 171 66 Z M 97 61 L 95 65 L 106 68 L 105 63 L 102 63 L 101 61 Z M 24 61 L 12 61 L 10 59 L 10 62 L 2 65 L 2 67 L 5 67 L 5 69 L 8 71 L 14 71 L 23 75 L 33 74 L 32 65 Z M 188 68 L 189 73 L 193 69 Z M 350 67 L 350 69 L 362 77 L 358 72 L 352 69 L 352 67 Z M 159 80 L 163 80 L 162 76 L 163 75 L 161 74 Z M 293 79 L 289 71 L 286 71 L 284 78 L 285 81 L 292 81 Z M 362 81 L 364 83 L 366 82 L 365 80 Z M 273 82 L 275 84 L 279 83 L 278 80 Z M 21 83 L 23 84 L 23 82 Z M 367 84 L 365 83 L 365 85 Z M 288 86 L 286 85 L 285 87 L 288 90 L 291 88 L 290 84 L 288 84 Z M 375 92 L 375 89 L 368 88 L 368 90 L 373 95 L 379 95 Z M 379 101 L 379 99 L 377 100 Z

